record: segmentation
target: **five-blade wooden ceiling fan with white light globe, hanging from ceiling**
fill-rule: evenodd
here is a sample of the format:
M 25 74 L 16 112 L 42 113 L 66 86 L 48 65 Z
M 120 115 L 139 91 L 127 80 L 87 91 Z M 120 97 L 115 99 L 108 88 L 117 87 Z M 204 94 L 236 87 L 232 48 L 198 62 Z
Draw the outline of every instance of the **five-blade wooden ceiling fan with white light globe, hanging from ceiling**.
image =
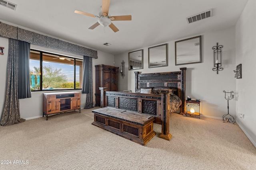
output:
M 108 10 L 110 6 L 110 0 L 102 0 L 102 6 L 101 6 L 101 12 L 99 12 L 99 16 L 96 16 L 94 14 L 82 12 L 75 10 L 76 14 L 82 14 L 94 18 L 98 18 L 98 22 L 94 23 L 89 29 L 94 29 L 98 25 L 102 25 L 104 27 L 109 26 L 114 32 L 119 31 L 119 29 L 112 23 L 112 21 L 130 21 L 132 20 L 132 16 L 109 16 L 108 15 Z

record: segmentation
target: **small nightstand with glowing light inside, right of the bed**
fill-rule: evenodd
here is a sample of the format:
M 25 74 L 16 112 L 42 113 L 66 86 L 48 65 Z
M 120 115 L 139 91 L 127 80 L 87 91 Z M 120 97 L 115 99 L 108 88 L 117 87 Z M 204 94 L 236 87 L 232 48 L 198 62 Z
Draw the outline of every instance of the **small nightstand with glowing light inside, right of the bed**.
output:
M 200 100 L 186 100 L 186 114 L 184 115 L 194 115 L 200 119 L 200 102 Z

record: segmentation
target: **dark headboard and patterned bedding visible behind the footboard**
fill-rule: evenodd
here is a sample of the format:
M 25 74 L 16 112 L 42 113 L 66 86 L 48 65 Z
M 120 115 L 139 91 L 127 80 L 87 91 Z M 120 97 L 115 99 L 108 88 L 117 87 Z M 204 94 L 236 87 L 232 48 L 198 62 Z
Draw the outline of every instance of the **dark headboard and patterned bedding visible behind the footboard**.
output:
M 185 81 L 186 67 L 175 72 L 135 73 L 135 92 L 141 89 L 151 89 L 151 94 L 158 94 L 161 89 L 172 89 L 170 95 L 170 112 L 185 113 Z

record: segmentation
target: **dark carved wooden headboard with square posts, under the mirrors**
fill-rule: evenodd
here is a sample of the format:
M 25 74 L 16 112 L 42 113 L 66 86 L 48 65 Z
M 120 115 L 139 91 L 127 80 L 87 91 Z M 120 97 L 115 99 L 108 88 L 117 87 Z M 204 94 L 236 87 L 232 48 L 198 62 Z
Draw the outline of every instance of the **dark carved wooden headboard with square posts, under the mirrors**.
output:
M 160 72 L 160 73 L 135 73 L 135 92 L 138 88 L 144 87 L 157 87 L 167 86 L 174 87 L 178 90 L 173 92 L 182 101 L 178 113 L 184 114 L 186 112 L 186 100 L 185 100 L 185 82 L 186 82 L 186 67 L 180 68 L 180 71 L 175 72 Z

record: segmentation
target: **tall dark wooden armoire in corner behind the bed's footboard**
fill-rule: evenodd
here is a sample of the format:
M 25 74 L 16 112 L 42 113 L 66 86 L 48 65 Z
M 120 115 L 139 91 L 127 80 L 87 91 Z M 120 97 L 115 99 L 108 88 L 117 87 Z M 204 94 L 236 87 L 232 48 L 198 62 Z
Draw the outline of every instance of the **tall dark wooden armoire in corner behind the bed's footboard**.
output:
M 118 91 L 118 67 L 100 64 L 95 68 L 95 106 L 100 106 L 99 87 L 106 87 L 108 91 Z

